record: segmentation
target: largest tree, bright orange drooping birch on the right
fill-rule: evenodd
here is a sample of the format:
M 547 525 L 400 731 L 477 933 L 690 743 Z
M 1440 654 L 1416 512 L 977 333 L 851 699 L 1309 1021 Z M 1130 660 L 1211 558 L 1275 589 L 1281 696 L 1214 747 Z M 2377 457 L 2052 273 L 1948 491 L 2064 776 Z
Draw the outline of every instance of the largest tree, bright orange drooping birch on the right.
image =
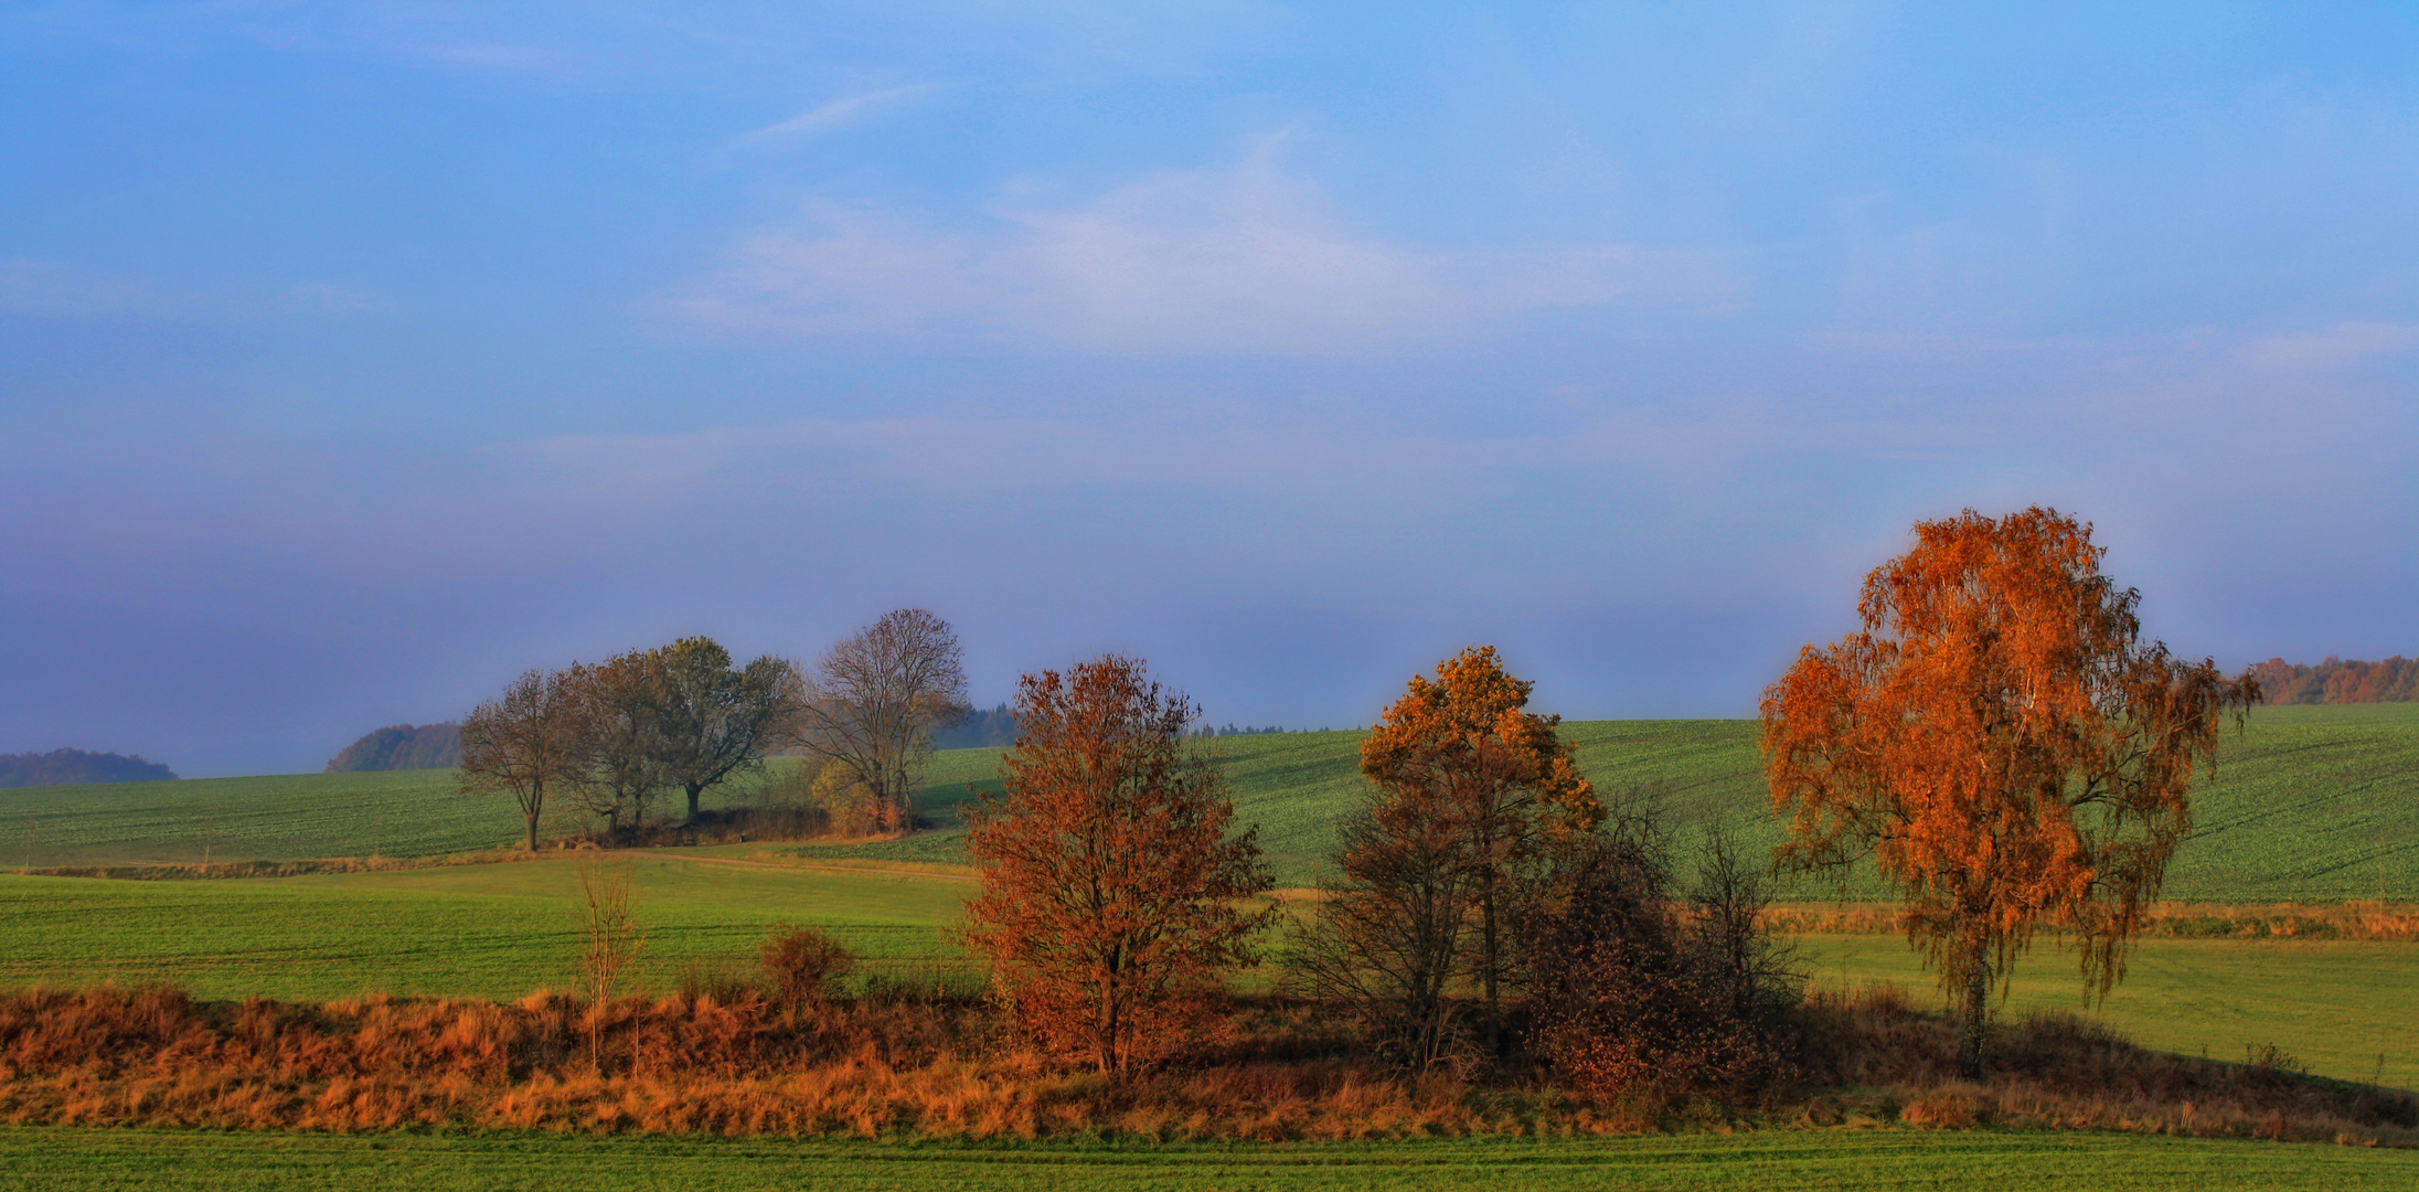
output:
M 1776 858 L 1899 885 L 1909 943 L 1962 1001 L 1957 1071 L 1979 1078 L 1993 986 L 2042 924 L 2090 991 L 2192 827 L 2194 774 L 2259 699 L 2250 675 L 2141 641 L 2141 592 L 2100 573 L 2092 527 L 2030 508 L 1916 522 L 1865 578 L 1865 629 L 1807 646 L 1763 692 Z

